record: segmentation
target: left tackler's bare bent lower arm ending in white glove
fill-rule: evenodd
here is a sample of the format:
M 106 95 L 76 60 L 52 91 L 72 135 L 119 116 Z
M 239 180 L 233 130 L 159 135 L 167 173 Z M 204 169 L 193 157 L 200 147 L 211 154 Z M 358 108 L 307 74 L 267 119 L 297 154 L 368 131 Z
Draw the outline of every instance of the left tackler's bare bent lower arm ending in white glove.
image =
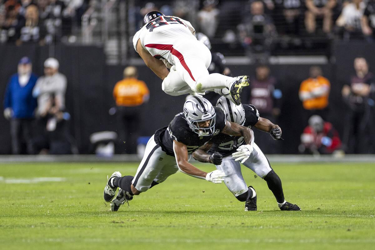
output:
M 178 169 L 181 172 L 195 178 L 211 181 L 213 183 L 221 183 L 224 180 L 222 177 L 224 177 L 225 174 L 221 170 L 214 170 L 212 172 L 207 173 L 187 162 L 188 154 L 187 147 L 185 144 L 174 140 L 173 149 Z

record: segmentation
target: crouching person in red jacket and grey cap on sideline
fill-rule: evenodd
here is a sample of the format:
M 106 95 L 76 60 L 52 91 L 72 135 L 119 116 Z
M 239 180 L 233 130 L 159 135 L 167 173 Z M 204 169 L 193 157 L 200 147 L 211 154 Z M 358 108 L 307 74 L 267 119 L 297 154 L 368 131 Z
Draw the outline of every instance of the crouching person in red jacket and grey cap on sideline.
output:
M 332 154 L 341 146 L 339 133 L 331 123 L 324 121 L 319 115 L 312 115 L 301 135 L 300 153 Z

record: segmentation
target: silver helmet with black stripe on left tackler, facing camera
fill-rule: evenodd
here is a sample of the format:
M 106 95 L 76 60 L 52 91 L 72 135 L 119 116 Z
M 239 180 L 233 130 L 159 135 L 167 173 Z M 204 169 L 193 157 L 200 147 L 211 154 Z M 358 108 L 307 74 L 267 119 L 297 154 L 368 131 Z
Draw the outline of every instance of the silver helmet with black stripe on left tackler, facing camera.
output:
M 184 116 L 193 132 L 201 136 L 212 135 L 215 131 L 216 112 L 212 104 L 202 96 L 193 96 L 184 103 Z M 210 120 L 208 127 L 199 127 L 199 122 Z

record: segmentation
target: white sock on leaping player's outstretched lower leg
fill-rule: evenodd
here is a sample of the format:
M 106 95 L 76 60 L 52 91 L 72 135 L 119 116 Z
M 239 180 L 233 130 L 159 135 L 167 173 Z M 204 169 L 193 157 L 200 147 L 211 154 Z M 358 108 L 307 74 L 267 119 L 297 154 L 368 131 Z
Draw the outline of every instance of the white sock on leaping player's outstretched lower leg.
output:
M 214 88 L 230 88 L 233 81 L 233 77 L 212 73 L 199 77 L 196 81 L 195 88 L 201 92 L 213 90 Z

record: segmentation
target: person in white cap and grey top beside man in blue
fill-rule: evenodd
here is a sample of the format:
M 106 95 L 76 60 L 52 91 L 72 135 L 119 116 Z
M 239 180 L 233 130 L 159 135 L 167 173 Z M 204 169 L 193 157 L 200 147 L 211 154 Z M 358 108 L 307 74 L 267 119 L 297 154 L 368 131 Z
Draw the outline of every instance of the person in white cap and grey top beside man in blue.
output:
M 44 76 L 38 79 L 33 89 L 33 96 L 37 97 L 38 102 L 36 117 L 40 129 L 39 139 L 36 140 L 37 147 L 49 148 L 49 153 L 53 153 L 50 135 L 57 132 L 58 124 L 64 120 L 67 81 L 66 76 L 58 72 L 58 67 L 56 58 L 47 58 L 44 61 Z M 62 148 L 60 145 L 56 149 Z M 62 153 L 69 153 L 69 151 Z

